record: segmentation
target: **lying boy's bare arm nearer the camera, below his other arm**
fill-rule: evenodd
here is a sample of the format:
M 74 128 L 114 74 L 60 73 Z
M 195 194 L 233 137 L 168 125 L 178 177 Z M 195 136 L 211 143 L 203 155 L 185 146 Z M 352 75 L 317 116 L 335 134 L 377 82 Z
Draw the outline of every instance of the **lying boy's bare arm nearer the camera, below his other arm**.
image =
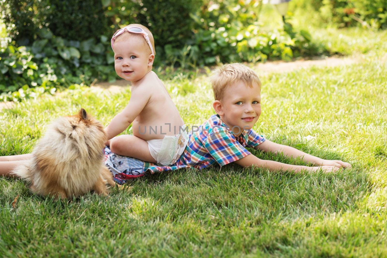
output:
M 255 157 L 253 154 L 247 155 L 246 157 L 243 157 L 235 161 L 235 163 L 242 167 L 249 167 L 249 166 L 264 167 L 269 169 L 270 171 L 291 170 L 295 172 L 300 172 L 302 170 L 306 170 L 306 171 L 312 172 L 312 171 L 317 171 L 322 169 L 323 171 L 336 172 L 337 170 L 339 170 L 339 167 L 335 167 L 335 166 L 307 167 L 307 166 L 290 165 L 290 164 L 285 164 L 277 161 L 268 161 L 268 160 L 259 159 Z

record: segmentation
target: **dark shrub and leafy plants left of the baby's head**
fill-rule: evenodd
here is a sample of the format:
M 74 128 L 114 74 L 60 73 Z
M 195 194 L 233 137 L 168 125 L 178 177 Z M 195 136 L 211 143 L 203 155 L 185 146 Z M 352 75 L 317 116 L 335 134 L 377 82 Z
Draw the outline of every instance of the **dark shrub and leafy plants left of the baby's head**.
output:
M 116 79 L 110 38 L 103 35 L 112 29 L 100 0 L 0 1 L 13 40 L 0 48 L 0 99 L 34 95 L 32 87 L 51 91 Z

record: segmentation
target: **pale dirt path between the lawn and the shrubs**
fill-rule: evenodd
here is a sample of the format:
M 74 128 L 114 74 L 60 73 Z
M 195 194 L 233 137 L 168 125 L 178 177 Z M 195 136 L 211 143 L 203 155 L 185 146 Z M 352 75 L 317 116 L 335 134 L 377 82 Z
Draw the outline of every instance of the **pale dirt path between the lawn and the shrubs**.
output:
M 320 66 L 320 67 L 334 67 L 338 65 L 349 65 L 355 63 L 355 58 L 342 58 L 342 57 L 328 57 L 328 58 L 314 58 L 312 60 L 297 60 L 293 62 L 284 62 L 284 61 L 274 61 L 259 63 L 255 65 L 254 70 L 259 72 L 259 75 L 272 72 L 290 72 L 300 68 L 307 68 L 310 66 Z M 111 93 L 120 92 L 125 86 L 129 85 L 126 80 L 116 80 L 116 82 L 99 82 L 92 84 L 91 88 L 93 91 L 110 91 Z M 10 102 L 0 102 L 0 111 L 4 108 L 11 108 L 14 105 L 12 101 Z

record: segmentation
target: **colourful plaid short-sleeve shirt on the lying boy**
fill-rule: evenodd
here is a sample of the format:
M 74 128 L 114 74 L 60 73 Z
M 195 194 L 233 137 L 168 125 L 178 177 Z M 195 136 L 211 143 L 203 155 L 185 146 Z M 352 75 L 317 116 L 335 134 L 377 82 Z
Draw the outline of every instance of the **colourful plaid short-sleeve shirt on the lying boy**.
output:
M 252 129 L 243 130 L 237 137 L 217 114 L 199 126 L 199 130 L 190 132 L 188 137 L 187 147 L 175 164 L 160 167 L 144 162 L 144 169 L 154 174 L 184 167 L 203 169 L 213 164 L 224 166 L 251 154 L 245 147 L 254 148 L 265 141 Z

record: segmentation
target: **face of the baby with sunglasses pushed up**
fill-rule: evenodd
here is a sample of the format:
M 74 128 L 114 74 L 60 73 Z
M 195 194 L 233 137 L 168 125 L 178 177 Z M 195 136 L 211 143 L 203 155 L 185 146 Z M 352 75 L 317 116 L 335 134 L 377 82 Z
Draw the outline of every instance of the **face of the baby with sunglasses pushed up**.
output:
M 131 38 L 114 43 L 114 68 L 122 79 L 136 82 L 149 71 L 150 55 L 144 50 L 143 40 Z

